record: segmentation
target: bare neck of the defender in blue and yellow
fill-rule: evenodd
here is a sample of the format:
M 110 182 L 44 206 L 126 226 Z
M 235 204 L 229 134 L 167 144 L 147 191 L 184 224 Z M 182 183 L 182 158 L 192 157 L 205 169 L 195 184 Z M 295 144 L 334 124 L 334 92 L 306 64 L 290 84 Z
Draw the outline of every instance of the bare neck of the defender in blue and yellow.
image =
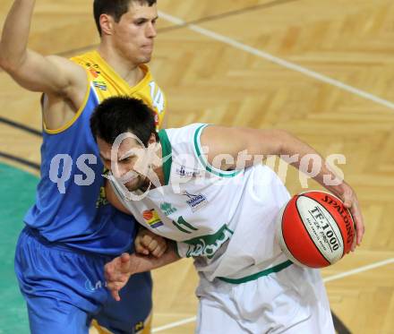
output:
M 100 44 L 98 48 L 99 55 L 109 64 L 112 69 L 131 87 L 135 86 L 142 80 L 144 73 L 141 71 L 139 64 L 133 64 L 116 53 L 114 47 L 107 47 Z

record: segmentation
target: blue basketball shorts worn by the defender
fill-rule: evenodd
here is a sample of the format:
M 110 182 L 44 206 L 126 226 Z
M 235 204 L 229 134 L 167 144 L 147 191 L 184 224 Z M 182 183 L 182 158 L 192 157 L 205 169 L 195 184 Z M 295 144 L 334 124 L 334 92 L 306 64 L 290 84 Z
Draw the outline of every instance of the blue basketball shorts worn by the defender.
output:
M 150 273 L 133 275 L 116 302 L 105 287 L 104 265 L 110 260 L 50 244 L 25 227 L 16 246 L 15 273 L 30 332 L 88 334 L 93 319 L 116 334 L 141 330 L 152 306 Z

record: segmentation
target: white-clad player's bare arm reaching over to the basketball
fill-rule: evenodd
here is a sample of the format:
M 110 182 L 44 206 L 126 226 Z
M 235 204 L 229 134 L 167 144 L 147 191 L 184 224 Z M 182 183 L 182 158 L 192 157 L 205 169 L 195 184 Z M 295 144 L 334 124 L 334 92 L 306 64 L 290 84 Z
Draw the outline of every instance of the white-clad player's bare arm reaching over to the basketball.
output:
M 306 173 L 310 166 L 302 166 L 301 161 L 305 156 L 311 155 L 320 159 L 320 171 L 313 176 L 319 184 L 334 193 L 344 201 L 345 206 L 355 219 L 356 244 L 361 244 L 364 236 L 364 219 L 360 210 L 355 191 L 344 180 L 329 169 L 329 165 L 321 155 L 304 141 L 300 141 L 287 131 L 247 128 L 227 128 L 222 126 L 208 126 L 201 134 L 201 146 L 208 148 L 208 162 L 222 170 L 250 167 L 256 161 L 256 156 L 278 155 L 287 159 L 287 162 Z M 223 154 L 231 156 L 230 159 L 218 158 Z M 295 157 L 295 158 L 290 158 Z M 336 183 L 327 183 L 326 180 L 337 179 Z M 353 247 L 354 250 L 355 247 Z

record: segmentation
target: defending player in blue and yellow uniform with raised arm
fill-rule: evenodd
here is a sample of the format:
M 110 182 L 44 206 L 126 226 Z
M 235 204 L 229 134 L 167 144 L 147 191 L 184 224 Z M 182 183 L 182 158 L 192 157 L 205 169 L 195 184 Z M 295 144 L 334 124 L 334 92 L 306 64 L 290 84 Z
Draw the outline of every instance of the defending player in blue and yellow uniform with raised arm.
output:
M 89 119 L 100 100 L 129 95 L 155 110 L 157 126 L 162 121 L 166 100 L 145 65 L 156 37 L 156 0 L 95 0 L 99 48 L 73 60 L 27 48 L 34 5 L 13 2 L 0 41 L 4 71 L 44 93 L 41 179 L 15 254 L 30 331 L 86 334 L 96 319 L 105 332 L 149 332 L 150 273 L 130 281 L 123 304 L 104 284 L 104 264 L 132 251 L 136 227 L 107 203 Z M 162 243 L 147 246 L 159 255 Z

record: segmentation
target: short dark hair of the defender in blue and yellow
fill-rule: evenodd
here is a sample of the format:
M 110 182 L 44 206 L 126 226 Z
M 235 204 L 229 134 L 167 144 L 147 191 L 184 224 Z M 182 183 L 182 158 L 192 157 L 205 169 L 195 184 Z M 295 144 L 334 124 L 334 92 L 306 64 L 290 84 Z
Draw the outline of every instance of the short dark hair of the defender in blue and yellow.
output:
M 129 5 L 132 2 L 140 4 L 148 4 L 152 6 L 156 4 L 156 0 L 94 0 L 93 14 L 96 21 L 97 29 L 101 36 L 100 16 L 101 14 L 111 15 L 116 22 L 120 21 L 122 15 L 127 13 Z

